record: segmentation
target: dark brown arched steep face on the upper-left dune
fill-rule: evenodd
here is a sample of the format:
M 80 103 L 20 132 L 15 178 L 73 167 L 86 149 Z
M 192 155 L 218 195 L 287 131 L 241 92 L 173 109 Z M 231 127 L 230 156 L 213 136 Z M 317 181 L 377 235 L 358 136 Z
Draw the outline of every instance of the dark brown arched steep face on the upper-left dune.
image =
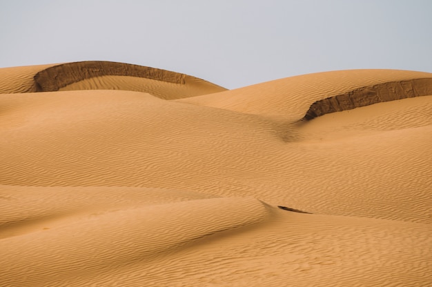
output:
M 186 75 L 130 63 L 79 61 L 63 63 L 38 72 L 34 79 L 37 92 L 55 92 L 71 83 L 100 76 L 130 76 L 169 83 L 186 83 Z

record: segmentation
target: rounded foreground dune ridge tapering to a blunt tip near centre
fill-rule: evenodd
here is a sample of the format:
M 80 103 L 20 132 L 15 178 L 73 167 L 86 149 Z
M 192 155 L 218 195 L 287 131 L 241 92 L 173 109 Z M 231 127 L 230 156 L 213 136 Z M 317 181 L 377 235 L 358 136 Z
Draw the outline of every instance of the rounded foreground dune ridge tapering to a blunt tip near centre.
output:
M 65 279 L 143 264 L 190 241 L 259 224 L 267 213 L 256 199 L 214 198 L 92 214 L 55 229 L 3 239 L 1 261 L 9 267 L 2 266 L 1 282 L 3 286 L 35 286 L 41 281 L 61 286 Z M 37 244 L 28 246 L 29 239 Z M 47 248 L 56 252 L 47 253 Z M 21 253 L 26 256 L 17 256 Z M 82 261 L 86 255 L 90 256 Z M 26 277 L 17 280 L 17 270 Z

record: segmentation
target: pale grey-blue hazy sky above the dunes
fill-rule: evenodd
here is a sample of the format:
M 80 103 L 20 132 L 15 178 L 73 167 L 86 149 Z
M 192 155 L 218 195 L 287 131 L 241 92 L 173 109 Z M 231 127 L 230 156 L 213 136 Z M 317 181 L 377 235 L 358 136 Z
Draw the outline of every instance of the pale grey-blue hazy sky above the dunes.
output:
M 0 0 L 0 67 L 118 61 L 240 88 L 329 70 L 432 72 L 431 0 Z

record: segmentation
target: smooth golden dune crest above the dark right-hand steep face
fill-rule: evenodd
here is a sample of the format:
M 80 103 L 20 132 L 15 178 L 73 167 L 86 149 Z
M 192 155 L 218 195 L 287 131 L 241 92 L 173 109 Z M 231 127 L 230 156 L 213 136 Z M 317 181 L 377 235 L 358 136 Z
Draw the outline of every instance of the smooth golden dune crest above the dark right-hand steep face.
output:
M 431 73 L 404 70 L 320 72 L 181 101 L 295 121 L 302 119 L 315 101 L 367 87 L 385 86 L 385 83 L 411 82 L 418 79 L 426 79 L 426 84 L 419 83 L 418 86 L 426 86 L 429 87 L 426 90 L 430 90 L 431 81 L 427 79 L 431 78 Z

